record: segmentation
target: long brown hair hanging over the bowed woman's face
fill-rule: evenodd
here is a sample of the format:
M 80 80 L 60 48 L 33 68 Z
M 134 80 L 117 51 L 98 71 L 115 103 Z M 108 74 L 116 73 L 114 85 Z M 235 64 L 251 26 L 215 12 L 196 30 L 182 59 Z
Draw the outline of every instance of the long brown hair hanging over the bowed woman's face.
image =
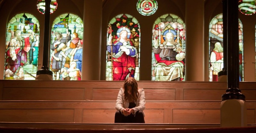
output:
M 132 87 L 131 94 L 128 93 L 128 89 L 127 89 L 128 86 Z M 124 88 L 124 101 L 129 101 L 129 102 L 137 101 L 137 99 L 139 97 L 138 84 L 134 78 L 128 77 L 124 81 L 123 88 Z

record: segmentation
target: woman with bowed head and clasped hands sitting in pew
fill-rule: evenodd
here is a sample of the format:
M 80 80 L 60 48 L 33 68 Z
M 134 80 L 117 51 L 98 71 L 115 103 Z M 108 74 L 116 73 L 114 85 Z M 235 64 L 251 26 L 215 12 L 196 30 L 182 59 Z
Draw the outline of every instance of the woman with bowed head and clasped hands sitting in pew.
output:
M 137 81 L 128 77 L 116 99 L 115 123 L 145 123 L 145 93 Z

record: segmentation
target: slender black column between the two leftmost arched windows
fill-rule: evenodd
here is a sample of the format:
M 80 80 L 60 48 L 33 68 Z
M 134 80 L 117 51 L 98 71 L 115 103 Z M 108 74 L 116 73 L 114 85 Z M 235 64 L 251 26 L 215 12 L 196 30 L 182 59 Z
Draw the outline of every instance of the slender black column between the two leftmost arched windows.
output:
M 39 74 L 48 74 L 52 76 L 52 71 L 48 68 L 48 48 L 49 48 L 49 29 L 50 29 L 50 3 L 51 0 L 45 0 L 44 13 L 44 48 L 43 48 L 43 66 L 36 72 Z

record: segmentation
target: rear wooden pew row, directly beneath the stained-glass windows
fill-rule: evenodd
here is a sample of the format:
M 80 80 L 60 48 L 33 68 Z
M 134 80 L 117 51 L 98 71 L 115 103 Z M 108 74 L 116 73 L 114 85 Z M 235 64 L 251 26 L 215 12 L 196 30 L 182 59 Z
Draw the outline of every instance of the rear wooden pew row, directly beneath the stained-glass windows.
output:
M 116 100 L 124 81 L 0 80 L 0 100 L 105 101 Z M 221 100 L 226 82 L 138 81 L 148 101 Z M 246 100 L 256 100 L 256 82 L 240 82 Z

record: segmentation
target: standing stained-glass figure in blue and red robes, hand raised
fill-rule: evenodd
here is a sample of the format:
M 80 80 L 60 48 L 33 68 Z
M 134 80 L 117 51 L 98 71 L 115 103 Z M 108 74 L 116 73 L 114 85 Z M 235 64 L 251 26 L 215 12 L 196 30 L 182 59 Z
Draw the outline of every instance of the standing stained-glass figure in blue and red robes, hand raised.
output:
M 135 60 L 137 49 L 130 41 L 131 31 L 127 27 L 121 27 L 117 30 L 117 39 L 112 43 L 113 36 L 108 37 L 107 50 L 113 57 L 113 80 L 125 80 L 126 77 L 134 77 Z

